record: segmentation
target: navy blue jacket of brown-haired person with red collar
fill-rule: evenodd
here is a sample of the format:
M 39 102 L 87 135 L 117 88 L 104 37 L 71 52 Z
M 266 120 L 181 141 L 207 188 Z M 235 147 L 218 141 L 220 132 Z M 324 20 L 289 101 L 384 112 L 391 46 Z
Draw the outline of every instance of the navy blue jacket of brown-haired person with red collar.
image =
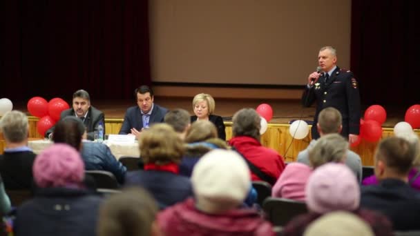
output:
M 130 171 L 126 175 L 125 186 L 142 186 L 149 190 L 161 209 L 193 195 L 188 177 L 160 170 Z

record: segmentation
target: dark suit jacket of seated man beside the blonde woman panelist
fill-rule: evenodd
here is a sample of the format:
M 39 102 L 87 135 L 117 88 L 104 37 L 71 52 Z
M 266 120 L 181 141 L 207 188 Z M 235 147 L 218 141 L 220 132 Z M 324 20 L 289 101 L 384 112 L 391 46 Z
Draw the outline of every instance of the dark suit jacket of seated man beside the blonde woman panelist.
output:
M 168 109 L 162 108 L 162 106 L 159 106 L 158 104 L 153 104 L 149 124 L 162 123 L 167 112 Z M 139 131 L 143 128 L 142 112 L 140 112 L 140 108 L 138 106 L 132 106 L 127 109 L 124 122 L 122 122 L 122 126 L 118 134 L 127 135 L 131 133 L 132 128 Z

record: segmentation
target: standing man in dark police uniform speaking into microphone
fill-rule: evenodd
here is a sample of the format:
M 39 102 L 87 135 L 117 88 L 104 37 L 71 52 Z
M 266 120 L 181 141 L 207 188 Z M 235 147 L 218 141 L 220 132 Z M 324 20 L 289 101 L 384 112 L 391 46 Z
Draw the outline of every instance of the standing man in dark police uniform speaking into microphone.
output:
M 326 46 L 319 50 L 319 71 L 307 77 L 307 86 L 302 96 L 303 106 L 311 106 L 316 100 L 316 114 L 312 125 L 312 139 L 318 139 L 316 129 L 318 114 L 323 108 L 333 107 L 343 116 L 341 135 L 348 137 L 350 144 L 357 140 L 360 124 L 359 84 L 350 70 L 336 66 L 336 50 Z

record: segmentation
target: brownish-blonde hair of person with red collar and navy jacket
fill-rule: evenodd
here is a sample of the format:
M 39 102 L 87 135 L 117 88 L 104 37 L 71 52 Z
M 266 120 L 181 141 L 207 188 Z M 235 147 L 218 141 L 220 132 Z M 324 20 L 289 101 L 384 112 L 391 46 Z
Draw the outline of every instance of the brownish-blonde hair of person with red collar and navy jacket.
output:
M 184 155 L 182 140 L 168 124 L 153 124 L 140 135 L 140 155 L 145 164 L 179 163 Z

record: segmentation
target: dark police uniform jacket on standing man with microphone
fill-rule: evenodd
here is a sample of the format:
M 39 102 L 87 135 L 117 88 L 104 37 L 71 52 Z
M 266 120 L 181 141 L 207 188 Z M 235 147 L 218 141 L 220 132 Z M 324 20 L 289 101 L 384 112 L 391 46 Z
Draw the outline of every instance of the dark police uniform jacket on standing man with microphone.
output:
M 343 117 L 343 130 L 341 135 L 348 139 L 349 134 L 359 135 L 361 116 L 359 84 L 351 71 L 337 68 L 332 72 L 327 83 L 321 76 L 312 88 L 305 88 L 302 96 L 303 106 L 311 106 L 316 100 L 316 113 L 312 125 L 312 139 L 318 139 L 316 129 L 318 114 L 327 107 L 340 111 Z

